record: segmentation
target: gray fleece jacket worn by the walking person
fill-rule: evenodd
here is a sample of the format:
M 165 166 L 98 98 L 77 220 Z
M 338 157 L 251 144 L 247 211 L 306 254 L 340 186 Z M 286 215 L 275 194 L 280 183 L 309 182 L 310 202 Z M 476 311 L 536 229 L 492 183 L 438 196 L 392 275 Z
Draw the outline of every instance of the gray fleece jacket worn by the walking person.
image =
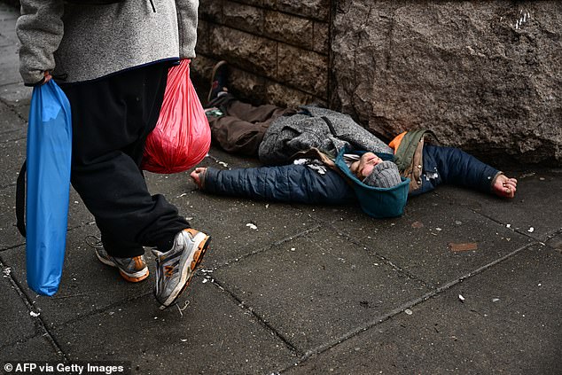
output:
M 90 81 L 156 61 L 194 58 L 199 0 L 132 0 L 74 5 L 20 0 L 16 30 L 26 84 L 48 70 L 66 82 Z

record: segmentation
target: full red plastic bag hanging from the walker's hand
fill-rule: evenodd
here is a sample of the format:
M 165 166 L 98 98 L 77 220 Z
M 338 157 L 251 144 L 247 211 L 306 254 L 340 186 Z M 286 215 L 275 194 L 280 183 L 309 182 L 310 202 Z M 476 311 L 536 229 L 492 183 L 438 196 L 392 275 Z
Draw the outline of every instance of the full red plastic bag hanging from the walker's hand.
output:
M 142 168 L 154 173 L 183 172 L 205 158 L 211 129 L 190 79 L 190 60 L 168 70 L 168 83 L 156 127 L 146 138 Z

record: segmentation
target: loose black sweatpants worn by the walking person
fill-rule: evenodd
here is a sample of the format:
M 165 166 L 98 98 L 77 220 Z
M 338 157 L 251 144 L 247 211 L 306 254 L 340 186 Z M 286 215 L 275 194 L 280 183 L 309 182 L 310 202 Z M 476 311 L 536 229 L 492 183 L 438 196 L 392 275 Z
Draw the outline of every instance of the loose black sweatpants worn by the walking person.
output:
M 144 254 L 143 246 L 167 251 L 176 233 L 189 228 L 162 195 L 151 196 L 140 168 L 167 74 L 168 63 L 158 63 L 60 85 L 72 108 L 71 181 L 115 257 Z

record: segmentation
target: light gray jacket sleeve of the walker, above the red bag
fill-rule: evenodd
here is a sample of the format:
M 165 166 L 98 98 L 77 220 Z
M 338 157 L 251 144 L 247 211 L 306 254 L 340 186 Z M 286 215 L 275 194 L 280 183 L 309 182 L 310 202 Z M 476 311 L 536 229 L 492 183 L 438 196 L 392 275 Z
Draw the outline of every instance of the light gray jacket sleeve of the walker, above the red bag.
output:
M 180 59 L 195 58 L 199 0 L 176 0 Z

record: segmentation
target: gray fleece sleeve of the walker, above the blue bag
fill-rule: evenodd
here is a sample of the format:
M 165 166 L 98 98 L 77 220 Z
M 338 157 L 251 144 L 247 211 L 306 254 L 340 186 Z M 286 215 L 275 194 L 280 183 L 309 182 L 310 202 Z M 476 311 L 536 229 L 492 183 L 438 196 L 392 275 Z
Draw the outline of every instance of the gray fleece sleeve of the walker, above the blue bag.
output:
M 20 74 L 26 85 L 43 81 L 43 73 L 55 68 L 54 51 L 63 36 L 63 0 L 21 0 L 16 21 L 20 38 Z

